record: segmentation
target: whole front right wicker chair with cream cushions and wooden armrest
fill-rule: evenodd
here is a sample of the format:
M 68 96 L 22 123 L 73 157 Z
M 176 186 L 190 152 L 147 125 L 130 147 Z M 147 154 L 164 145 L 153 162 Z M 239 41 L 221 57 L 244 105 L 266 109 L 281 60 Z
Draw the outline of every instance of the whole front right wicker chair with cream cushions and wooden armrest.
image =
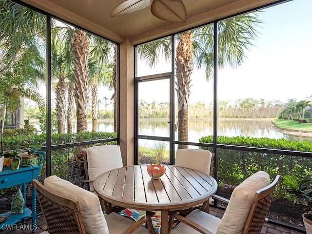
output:
M 180 221 L 171 234 L 260 234 L 280 178 L 270 184 L 266 174 L 259 171 L 234 189 L 222 219 L 201 210 L 186 217 L 169 212 Z

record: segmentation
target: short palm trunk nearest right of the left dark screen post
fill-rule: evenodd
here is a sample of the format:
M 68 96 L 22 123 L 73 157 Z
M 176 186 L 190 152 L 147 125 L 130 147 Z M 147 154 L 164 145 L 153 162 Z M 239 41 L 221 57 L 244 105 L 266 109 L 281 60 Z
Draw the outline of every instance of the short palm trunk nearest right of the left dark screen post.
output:
M 56 89 L 57 99 L 57 119 L 58 119 L 58 133 L 65 133 L 65 122 L 66 122 L 66 83 L 63 77 L 59 77 L 59 82 Z

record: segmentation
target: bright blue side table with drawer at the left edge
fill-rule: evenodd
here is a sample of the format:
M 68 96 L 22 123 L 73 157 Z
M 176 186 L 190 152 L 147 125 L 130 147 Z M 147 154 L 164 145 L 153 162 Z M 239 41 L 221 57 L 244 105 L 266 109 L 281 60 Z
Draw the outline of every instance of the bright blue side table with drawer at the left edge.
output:
M 12 225 L 20 220 L 23 222 L 25 218 L 32 218 L 32 233 L 36 232 L 36 220 L 37 220 L 37 194 L 35 187 L 32 188 L 32 207 L 31 210 L 26 207 L 26 183 L 32 182 L 33 179 L 38 179 L 39 171 L 41 168 L 41 163 L 43 160 L 43 156 L 46 155 L 43 151 L 37 151 L 41 154 L 39 158 L 38 165 L 32 165 L 29 167 L 23 167 L 20 165 L 20 168 L 17 170 L 12 170 L 11 167 L 3 167 L 3 171 L 0 172 L 0 189 L 11 187 L 14 185 L 21 184 L 21 192 L 25 200 L 24 204 L 24 212 L 22 214 L 11 215 L 7 220 L 0 223 L 1 229 L 7 227 L 7 225 Z

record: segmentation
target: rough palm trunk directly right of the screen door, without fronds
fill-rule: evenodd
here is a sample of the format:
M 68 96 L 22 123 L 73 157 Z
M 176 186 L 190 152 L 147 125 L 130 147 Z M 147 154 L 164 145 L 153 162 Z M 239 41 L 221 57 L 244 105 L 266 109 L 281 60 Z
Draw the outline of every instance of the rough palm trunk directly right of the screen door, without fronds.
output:
M 176 48 L 176 93 L 178 101 L 178 140 L 188 141 L 188 109 L 191 74 L 193 70 L 193 46 L 190 32 L 180 35 Z M 178 149 L 188 148 L 178 145 Z

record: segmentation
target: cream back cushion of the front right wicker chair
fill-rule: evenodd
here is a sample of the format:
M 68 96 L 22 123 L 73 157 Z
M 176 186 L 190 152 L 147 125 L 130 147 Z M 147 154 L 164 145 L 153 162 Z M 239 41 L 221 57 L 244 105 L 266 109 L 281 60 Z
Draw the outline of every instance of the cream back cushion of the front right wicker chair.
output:
M 268 173 L 259 171 L 245 179 L 233 191 L 229 205 L 221 219 L 217 234 L 241 234 L 244 230 L 254 195 L 270 184 Z

